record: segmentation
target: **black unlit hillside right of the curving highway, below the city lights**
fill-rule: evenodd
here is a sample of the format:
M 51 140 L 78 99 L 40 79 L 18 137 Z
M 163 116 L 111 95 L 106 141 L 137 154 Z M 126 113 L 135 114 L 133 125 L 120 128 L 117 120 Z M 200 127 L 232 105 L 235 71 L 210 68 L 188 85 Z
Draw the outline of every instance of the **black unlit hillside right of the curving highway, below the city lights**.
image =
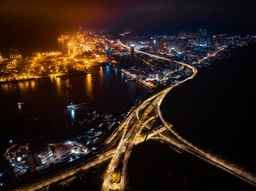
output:
M 254 174 L 255 51 L 256 45 L 239 47 L 229 58 L 200 68 L 161 105 L 181 136 Z

